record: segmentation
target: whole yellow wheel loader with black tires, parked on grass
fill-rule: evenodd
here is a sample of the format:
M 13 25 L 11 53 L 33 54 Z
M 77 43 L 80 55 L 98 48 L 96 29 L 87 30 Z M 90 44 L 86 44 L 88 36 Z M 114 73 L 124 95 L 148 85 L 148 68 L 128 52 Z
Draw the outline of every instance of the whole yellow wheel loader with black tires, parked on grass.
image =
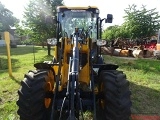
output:
M 129 81 L 101 55 L 101 25 L 112 19 L 101 19 L 94 6 L 57 7 L 57 36 L 48 39 L 55 55 L 25 74 L 17 101 L 21 120 L 130 119 Z M 85 118 L 86 111 L 92 116 Z

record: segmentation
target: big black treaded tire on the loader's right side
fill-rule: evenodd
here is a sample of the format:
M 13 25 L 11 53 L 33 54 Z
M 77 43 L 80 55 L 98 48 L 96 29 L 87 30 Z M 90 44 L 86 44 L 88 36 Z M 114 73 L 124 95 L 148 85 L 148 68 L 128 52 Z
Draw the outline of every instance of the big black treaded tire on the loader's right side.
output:
M 103 107 L 106 120 L 129 120 L 131 115 L 131 92 L 129 81 L 122 71 L 104 70 L 100 73 L 100 90 L 104 96 Z

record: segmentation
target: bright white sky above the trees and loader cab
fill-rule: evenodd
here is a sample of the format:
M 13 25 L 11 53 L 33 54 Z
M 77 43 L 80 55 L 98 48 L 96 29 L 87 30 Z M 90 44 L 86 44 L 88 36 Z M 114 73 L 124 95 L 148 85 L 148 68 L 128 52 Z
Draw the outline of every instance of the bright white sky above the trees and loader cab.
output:
M 29 0 L 0 0 L 0 2 L 11 10 L 15 17 L 22 19 L 24 7 Z M 146 5 L 147 9 L 156 8 L 160 13 L 160 0 L 64 0 L 64 3 L 67 6 L 97 6 L 100 9 L 101 18 L 106 18 L 107 14 L 113 14 L 113 23 L 110 25 L 121 25 L 125 15 L 124 9 L 132 4 L 139 8 L 142 5 Z

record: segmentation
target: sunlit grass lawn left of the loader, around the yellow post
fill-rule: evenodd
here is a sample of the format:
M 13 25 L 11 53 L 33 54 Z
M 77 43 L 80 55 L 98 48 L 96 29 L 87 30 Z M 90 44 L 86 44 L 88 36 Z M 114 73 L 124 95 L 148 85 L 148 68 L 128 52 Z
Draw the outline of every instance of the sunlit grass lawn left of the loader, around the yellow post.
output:
M 35 57 L 34 57 L 34 54 Z M 34 69 L 34 62 L 49 60 L 47 49 L 42 47 L 24 46 L 11 49 L 12 75 L 8 75 L 7 52 L 0 47 L 0 120 L 18 120 L 16 101 L 20 81 L 28 70 Z

